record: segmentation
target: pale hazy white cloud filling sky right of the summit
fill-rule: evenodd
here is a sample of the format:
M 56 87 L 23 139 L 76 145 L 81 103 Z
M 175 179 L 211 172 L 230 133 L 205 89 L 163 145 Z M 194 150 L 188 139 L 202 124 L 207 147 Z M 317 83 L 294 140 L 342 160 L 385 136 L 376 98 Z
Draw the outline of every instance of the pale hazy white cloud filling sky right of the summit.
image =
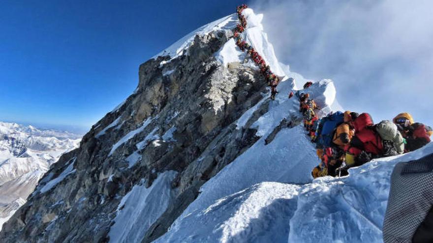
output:
M 249 5 L 264 13 L 278 59 L 308 78 L 335 81 L 345 108 L 368 111 L 375 121 L 402 111 L 419 122 L 433 120 L 426 112 L 433 102 L 433 1 L 255 0 Z

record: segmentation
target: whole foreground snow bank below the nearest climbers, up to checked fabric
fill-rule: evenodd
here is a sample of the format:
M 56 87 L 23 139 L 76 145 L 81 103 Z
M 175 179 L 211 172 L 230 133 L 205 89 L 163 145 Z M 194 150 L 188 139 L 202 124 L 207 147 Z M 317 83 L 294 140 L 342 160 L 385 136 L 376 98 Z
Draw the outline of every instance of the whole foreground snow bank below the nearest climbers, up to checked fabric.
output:
M 261 182 L 211 203 L 201 200 L 156 242 L 379 243 L 395 164 L 432 153 L 430 143 L 352 168 L 343 178 Z

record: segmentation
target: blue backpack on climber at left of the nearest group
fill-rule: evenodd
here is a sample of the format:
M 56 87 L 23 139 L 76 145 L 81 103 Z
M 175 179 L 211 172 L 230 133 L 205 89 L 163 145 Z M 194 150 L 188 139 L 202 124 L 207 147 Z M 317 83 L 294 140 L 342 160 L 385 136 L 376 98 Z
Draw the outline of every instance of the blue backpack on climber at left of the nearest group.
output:
M 317 147 L 326 148 L 332 146 L 334 129 L 344 122 L 344 113 L 337 111 L 323 117 L 317 129 Z

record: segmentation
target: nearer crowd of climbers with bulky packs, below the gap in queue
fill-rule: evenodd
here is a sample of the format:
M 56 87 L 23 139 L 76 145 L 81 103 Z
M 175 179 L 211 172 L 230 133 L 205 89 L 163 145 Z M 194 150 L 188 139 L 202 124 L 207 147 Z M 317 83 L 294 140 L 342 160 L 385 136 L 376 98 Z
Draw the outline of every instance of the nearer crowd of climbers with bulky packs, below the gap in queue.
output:
M 304 85 L 304 89 L 311 86 Z M 320 163 L 313 168 L 314 178 L 344 176 L 353 166 L 372 159 L 395 156 L 414 151 L 429 143 L 431 127 L 415 123 L 409 113 L 398 114 L 393 121 L 374 124 L 369 113 L 351 111 L 331 112 L 319 119 L 314 110 L 319 109 L 308 93 L 296 92 L 304 127 L 316 144 Z M 289 98 L 293 92 L 289 94 Z

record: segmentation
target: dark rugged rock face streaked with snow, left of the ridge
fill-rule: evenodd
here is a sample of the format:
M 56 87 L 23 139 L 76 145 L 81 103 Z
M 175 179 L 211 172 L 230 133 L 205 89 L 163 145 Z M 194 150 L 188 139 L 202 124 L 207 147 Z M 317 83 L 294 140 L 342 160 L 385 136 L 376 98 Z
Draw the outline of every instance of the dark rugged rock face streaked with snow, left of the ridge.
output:
M 263 98 L 266 83 L 257 71 L 215 60 L 231 35 L 196 36 L 187 54 L 142 64 L 134 94 L 50 168 L 3 225 L 1 241 L 107 242 L 122 197 L 142 179 L 151 186 L 158 173 L 175 170 L 174 199 L 143 242 L 164 234 L 200 186 L 258 140 L 247 127 L 266 112 L 266 102 L 246 128 L 234 121 Z

